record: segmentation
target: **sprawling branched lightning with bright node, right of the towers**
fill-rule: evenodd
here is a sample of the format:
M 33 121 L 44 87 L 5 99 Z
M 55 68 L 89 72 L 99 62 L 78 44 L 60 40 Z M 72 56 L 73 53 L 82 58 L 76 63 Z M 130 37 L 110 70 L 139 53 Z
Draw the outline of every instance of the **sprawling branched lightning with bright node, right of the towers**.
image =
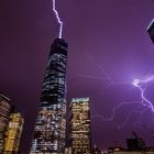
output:
M 134 101 L 123 101 L 118 103 L 118 106 L 116 106 L 112 109 L 112 113 L 109 118 L 103 117 L 102 114 L 94 114 L 91 118 L 96 119 L 100 119 L 102 122 L 107 122 L 107 121 L 112 121 L 116 118 L 116 113 L 118 112 L 118 110 L 121 109 L 121 107 L 123 106 L 130 106 L 130 105 L 134 105 L 135 108 L 133 110 L 131 110 L 129 112 L 129 114 L 127 116 L 125 120 L 121 123 L 118 124 L 118 129 L 122 129 L 130 120 L 130 118 L 133 114 L 138 114 L 138 121 L 135 123 L 133 123 L 134 127 L 140 125 L 142 122 L 142 117 L 143 114 L 147 111 L 151 110 L 152 112 L 154 112 L 154 106 L 153 103 L 145 97 L 145 90 L 147 88 L 147 82 L 154 80 L 154 75 L 152 75 L 150 78 L 145 79 L 145 80 L 140 80 L 140 79 L 134 79 L 133 82 L 127 82 L 127 81 L 116 81 L 111 78 L 111 76 L 100 66 L 97 64 L 97 62 L 90 57 L 90 61 L 94 62 L 95 65 L 97 65 L 97 68 L 101 72 L 102 76 L 94 76 L 94 75 L 82 75 L 82 74 L 78 74 L 79 77 L 86 77 L 86 78 L 91 78 L 91 79 L 99 79 L 99 80 L 107 80 L 108 86 L 106 88 L 109 88 L 113 85 L 133 85 L 136 88 L 139 88 L 140 92 L 141 92 L 141 100 L 134 100 Z M 151 73 L 152 74 L 152 73 Z

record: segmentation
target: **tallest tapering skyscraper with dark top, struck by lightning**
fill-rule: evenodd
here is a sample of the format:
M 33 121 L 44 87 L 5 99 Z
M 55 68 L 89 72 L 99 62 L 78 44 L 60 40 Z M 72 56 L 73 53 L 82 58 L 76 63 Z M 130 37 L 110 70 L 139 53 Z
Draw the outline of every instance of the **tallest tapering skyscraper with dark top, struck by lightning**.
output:
M 31 154 L 65 152 L 67 47 L 62 38 L 56 38 L 51 47 Z

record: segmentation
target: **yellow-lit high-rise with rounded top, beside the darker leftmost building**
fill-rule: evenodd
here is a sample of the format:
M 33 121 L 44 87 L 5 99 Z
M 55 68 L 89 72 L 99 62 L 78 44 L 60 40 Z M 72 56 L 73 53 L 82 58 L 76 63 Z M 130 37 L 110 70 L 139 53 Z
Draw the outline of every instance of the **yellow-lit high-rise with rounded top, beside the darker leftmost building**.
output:
M 4 154 L 18 154 L 20 139 L 23 130 L 23 117 L 20 112 L 11 113 L 6 132 Z

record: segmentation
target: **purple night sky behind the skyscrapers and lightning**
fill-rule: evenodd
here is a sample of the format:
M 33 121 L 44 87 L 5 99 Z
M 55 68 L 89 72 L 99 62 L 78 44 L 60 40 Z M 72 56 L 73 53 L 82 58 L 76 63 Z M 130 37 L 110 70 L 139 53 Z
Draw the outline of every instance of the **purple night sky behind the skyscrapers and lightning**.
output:
M 94 144 L 125 146 L 125 138 L 135 131 L 154 145 L 154 113 L 140 106 L 140 91 L 132 85 L 134 78 L 154 74 L 154 45 L 146 33 L 154 1 L 57 0 L 56 4 L 69 45 L 67 102 L 73 97 L 90 97 Z M 0 90 L 25 118 L 24 154 L 30 151 L 47 56 L 57 32 L 52 0 L 0 1 Z M 152 102 L 153 92 L 151 81 L 145 96 Z M 116 111 L 113 120 L 103 121 L 121 102 L 127 105 Z

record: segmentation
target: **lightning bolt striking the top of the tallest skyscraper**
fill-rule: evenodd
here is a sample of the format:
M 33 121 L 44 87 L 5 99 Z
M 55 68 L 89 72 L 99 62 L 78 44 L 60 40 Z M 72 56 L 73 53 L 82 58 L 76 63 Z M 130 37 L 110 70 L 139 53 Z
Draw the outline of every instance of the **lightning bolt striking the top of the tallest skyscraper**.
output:
M 55 16 L 57 19 L 57 22 L 59 23 L 58 37 L 62 38 L 63 21 L 61 20 L 59 14 L 58 14 L 58 11 L 56 10 L 56 2 L 55 2 L 55 0 L 53 0 L 53 11 L 54 11 L 54 14 L 55 14 Z

